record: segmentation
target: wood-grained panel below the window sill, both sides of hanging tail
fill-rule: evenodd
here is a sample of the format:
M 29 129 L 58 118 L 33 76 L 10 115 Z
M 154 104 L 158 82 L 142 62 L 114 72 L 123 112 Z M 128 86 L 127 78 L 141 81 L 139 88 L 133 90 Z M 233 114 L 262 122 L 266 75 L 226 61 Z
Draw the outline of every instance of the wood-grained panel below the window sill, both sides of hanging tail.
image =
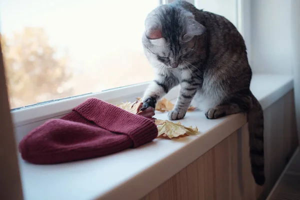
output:
M 141 199 L 265 199 L 298 145 L 292 90 L 264 110 L 264 126 L 264 186 L 251 174 L 245 124 Z

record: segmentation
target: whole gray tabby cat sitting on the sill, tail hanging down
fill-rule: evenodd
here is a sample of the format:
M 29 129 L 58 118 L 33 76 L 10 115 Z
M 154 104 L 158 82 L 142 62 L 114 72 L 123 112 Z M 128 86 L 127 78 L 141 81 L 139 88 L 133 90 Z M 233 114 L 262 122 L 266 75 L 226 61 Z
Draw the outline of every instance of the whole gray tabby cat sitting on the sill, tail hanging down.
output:
M 249 89 L 252 76 L 244 40 L 225 17 L 175 1 L 152 10 L 142 37 L 155 78 L 142 98 L 142 110 L 180 84 L 168 117 L 184 117 L 191 100 L 209 119 L 245 112 L 252 174 L 264 184 L 263 113 Z

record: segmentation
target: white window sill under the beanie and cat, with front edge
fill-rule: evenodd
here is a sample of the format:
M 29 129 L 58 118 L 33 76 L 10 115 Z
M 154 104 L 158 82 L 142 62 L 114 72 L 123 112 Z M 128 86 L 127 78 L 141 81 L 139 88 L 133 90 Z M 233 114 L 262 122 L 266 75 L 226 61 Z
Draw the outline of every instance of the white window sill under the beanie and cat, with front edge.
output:
M 251 90 L 263 109 L 293 88 L 289 75 L 254 74 Z M 174 92 L 173 92 L 174 93 Z M 173 96 L 175 97 L 175 96 Z M 166 113 L 155 115 L 166 119 Z M 209 120 L 188 112 L 184 125 L 199 134 L 175 140 L 154 139 L 136 149 L 56 165 L 34 165 L 19 159 L 25 199 L 138 199 L 180 171 L 246 123 L 243 114 Z

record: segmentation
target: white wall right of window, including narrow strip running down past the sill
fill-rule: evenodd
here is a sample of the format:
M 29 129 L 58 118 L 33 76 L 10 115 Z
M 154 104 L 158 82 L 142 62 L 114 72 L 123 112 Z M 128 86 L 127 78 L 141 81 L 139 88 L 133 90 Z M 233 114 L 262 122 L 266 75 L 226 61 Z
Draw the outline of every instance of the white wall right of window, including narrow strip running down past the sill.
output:
M 250 2 L 251 67 L 254 72 L 291 74 L 300 141 L 300 0 Z

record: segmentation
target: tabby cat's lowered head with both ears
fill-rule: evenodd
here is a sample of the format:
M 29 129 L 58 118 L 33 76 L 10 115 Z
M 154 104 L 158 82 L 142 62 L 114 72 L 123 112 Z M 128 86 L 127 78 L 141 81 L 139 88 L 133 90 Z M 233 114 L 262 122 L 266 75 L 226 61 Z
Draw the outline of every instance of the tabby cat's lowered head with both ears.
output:
M 153 67 L 184 67 L 196 52 L 197 36 L 204 32 L 191 12 L 165 4 L 146 17 L 142 43 Z

